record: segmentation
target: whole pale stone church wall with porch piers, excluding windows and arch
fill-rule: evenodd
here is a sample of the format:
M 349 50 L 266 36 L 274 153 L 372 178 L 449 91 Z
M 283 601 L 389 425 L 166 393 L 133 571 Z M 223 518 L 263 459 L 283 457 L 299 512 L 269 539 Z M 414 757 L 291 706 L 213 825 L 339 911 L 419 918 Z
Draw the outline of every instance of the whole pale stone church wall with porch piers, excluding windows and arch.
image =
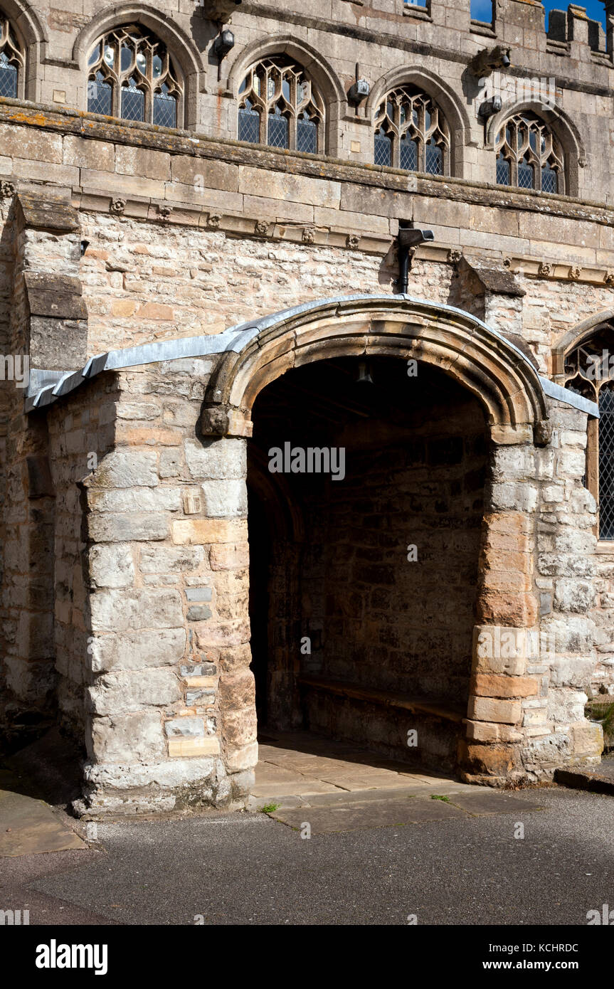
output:
M 542 8 L 517 0 L 497 5 L 490 29 L 471 24 L 465 0 L 433 0 L 426 16 L 401 0 L 318 0 L 283 18 L 272 0 L 243 2 L 232 19 L 236 44 L 219 68 L 211 52 L 219 25 L 207 5 L 131 7 L 183 70 L 186 129 L 171 132 L 85 112 L 88 51 L 120 9 L 105 0 L 70 0 L 62 11 L 43 0 L 21 14 L 18 6 L 27 71 L 20 100 L 0 100 L 0 342 L 5 356 L 30 356 L 33 391 L 48 380 L 43 372 L 55 381 L 100 351 L 215 335 L 322 297 L 389 294 L 405 223 L 434 233 L 412 259 L 409 293 L 518 334 L 544 374 L 555 371 L 564 333 L 611 309 L 603 120 L 614 35 L 610 26 L 607 45 L 595 45 L 577 8 L 565 25 L 555 18 L 549 38 Z M 493 184 L 494 135 L 522 103 L 509 101 L 486 127 L 477 116 L 482 97 L 469 63 L 495 44 L 512 46 L 516 84 L 557 79 L 552 119 L 569 195 Z M 235 139 L 244 70 L 280 46 L 308 59 L 326 97 L 325 154 Z M 346 96 L 357 62 L 371 97 L 354 110 Z M 375 112 L 402 82 L 441 101 L 453 131 L 450 176 L 373 164 Z M 12 706 L 10 721 L 24 709 L 50 718 L 58 702 L 71 731 L 84 727 L 93 805 L 130 803 L 131 793 L 155 804 L 161 791 L 164 806 L 222 802 L 249 785 L 244 441 L 199 438 L 210 370 L 204 360 L 122 372 L 113 384 L 84 385 L 48 415 L 25 416 L 23 392 L 2 383 L 2 704 Z M 489 750 L 493 778 L 547 772 L 550 737 L 561 740 L 562 759 L 592 758 L 596 742 L 580 713 L 590 664 L 593 687 L 614 682 L 610 563 L 595 557 L 595 574 L 588 556 L 585 422 L 553 409 L 550 448 L 533 452 L 526 436 L 507 436 L 496 452 L 478 621 L 535 629 L 542 606 L 545 627 L 563 637 L 563 665 L 542 670 L 523 646 L 516 666 L 502 670 L 474 649 L 470 776 L 493 742 L 502 746 Z M 503 673 L 512 696 L 496 679 Z M 195 788 L 196 779 L 205 783 Z

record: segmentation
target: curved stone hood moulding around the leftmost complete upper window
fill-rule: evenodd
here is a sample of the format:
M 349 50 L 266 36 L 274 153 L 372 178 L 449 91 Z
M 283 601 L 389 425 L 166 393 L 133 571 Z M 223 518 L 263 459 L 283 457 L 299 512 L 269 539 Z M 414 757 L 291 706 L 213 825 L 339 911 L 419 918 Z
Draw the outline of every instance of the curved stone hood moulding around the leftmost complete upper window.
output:
M 95 45 L 101 35 L 112 28 L 119 28 L 123 24 L 132 22 L 148 28 L 167 45 L 175 64 L 181 70 L 186 87 L 183 126 L 194 128 L 198 119 L 198 93 L 205 91 L 207 78 L 205 64 L 189 35 L 171 17 L 160 14 L 155 7 L 124 3 L 105 8 L 77 35 L 72 49 L 73 62 L 82 73 L 87 72 L 87 56 L 92 45 Z

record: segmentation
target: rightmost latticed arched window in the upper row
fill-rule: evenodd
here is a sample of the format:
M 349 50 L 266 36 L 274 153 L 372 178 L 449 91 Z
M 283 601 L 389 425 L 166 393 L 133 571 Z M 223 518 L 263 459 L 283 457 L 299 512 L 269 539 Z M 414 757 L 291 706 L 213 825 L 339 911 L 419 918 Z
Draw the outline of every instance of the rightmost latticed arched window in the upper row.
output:
M 496 136 L 496 184 L 565 192 L 563 151 L 536 114 L 510 117 Z

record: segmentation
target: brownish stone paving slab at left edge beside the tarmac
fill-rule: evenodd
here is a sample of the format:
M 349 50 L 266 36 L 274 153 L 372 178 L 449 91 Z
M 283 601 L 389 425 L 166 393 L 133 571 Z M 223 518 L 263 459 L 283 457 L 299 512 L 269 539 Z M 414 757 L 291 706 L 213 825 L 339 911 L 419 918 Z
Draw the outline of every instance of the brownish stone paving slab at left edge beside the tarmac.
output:
M 0 770 L 0 856 L 87 849 L 43 800 L 20 792 L 18 777 Z

